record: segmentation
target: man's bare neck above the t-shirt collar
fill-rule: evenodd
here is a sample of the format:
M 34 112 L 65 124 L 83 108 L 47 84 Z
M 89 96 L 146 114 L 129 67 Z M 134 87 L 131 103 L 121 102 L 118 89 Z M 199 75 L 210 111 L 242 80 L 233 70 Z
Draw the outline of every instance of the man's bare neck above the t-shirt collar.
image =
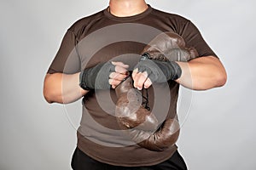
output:
M 118 17 L 143 13 L 148 8 L 144 0 L 110 0 L 109 12 Z

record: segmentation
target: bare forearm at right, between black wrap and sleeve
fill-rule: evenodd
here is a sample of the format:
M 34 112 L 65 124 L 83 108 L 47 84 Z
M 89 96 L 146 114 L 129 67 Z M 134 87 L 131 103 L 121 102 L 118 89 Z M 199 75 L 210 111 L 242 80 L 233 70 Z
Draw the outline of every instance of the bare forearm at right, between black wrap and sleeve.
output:
M 182 69 L 182 75 L 176 82 L 186 88 L 206 90 L 221 87 L 226 82 L 227 75 L 224 66 L 219 59 L 213 56 L 177 63 Z

